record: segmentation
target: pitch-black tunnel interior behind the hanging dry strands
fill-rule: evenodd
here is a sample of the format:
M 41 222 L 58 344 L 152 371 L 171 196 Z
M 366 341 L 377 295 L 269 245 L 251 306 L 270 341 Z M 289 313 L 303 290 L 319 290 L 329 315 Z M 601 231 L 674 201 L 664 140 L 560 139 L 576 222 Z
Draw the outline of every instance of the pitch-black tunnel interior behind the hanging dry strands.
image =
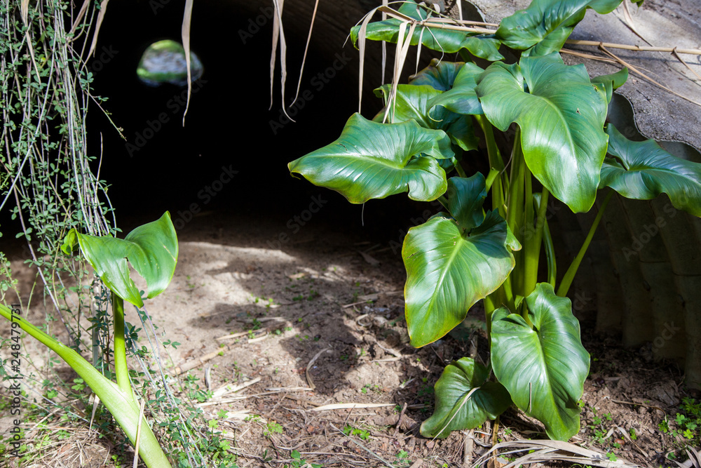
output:
M 108 194 L 118 225 L 129 227 L 134 224 L 131 218 L 139 223 L 155 219 L 165 210 L 176 228 L 189 222 L 193 212 L 212 210 L 221 216 L 245 215 L 252 222 L 268 218 L 284 223 L 321 197 L 327 204 L 315 222 L 383 236 L 380 233 L 388 228 L 396 232 L 416 224 L 411 222 L 416 213 L 427 208 L 435 212 L 435 207 L 411 202 L 405 194 L 371 200 L 365 207 L 352 205 L 336 192 L 292 178 L 287 163 L 338 138 L 343 124 L 358 110 L 358 51 L 351 44 L 343 47 L 345 36 L 313 36 L 300 97 L 289 110 L 296 122 L 288 122 L 281 111 L 279 58 L 273 105 L 268 109 L 269 11 L 252 8 L 245 11 L 236 4 L 210 1 L 195 5 L 191 49 L 205 71 L 193 83 L 183 127 L 186 88 L 151 88 L 136 75 L 149 44 L 180 40 L 182 4 L 151 0 L 109 6 L 90 69 L 95 93 L 108 98 L 102 107 L 127 140 L 95 105 L 90 109 L 88 136 L 93 148 L 102 144 L 100 178 L 111 185 Z M 297 87 L 309 18 L 300 20 L 304 36 L 295 34 L 285 20 L 283 15 L 289 104 Z M 355 20 L 349 20 L 346 34 Z M 315 47 L 324 44 L 333 51 L 329 43 L 337 43 L 333 55 Z M 366 78 L 363 114 L 368 118 L 381 107 L 372 95 L 372 84 Z

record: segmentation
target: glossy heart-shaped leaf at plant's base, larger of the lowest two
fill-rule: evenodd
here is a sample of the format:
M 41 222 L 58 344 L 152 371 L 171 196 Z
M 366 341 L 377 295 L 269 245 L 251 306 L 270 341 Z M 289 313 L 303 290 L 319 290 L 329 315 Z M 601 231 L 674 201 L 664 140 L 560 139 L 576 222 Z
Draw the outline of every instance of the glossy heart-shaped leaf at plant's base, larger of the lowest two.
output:
M 539 283 L 526 307 L 533 328 L 504 307 L 492 315 L 491 365 L 514 403 L 543 422 L 550 439 L 566 441 L 579 431 L 590 356 L 567 297 Z

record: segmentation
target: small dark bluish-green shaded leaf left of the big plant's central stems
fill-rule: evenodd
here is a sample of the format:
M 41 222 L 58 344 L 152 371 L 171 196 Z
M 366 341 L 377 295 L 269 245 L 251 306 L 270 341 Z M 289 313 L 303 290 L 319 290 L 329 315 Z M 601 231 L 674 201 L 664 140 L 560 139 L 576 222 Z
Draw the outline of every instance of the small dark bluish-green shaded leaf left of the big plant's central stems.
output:
M 470 178 L 449 178 L 447 193 L 448 210 L 460 227 L 470 230 L 482 224 L 482 205 L 486 199 L 482 173 L 476 173 Z

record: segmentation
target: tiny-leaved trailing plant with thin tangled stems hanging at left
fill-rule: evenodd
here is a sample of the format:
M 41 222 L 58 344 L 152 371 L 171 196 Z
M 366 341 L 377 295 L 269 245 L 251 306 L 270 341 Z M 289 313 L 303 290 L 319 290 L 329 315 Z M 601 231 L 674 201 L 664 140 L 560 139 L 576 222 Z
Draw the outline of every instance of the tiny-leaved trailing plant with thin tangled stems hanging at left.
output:
M 67 349 L 76 356 L 88 356 L 97 374 L 109 379 L 115 375 L 114 333 L 123 335 L 123 330 L 112 326 L 109 306 L 113 297 L 104 283 L 93 277 L 84 258 L 69 258 L 60 250 L 72 228 L 93 236 L 114 236 L 119 231 L 106 182 L 99 178 L 99 148 L 88 148 L 86 135 L 88 108 L 101 109 L 104 102 L 91 91 L 93 74 L 87 66 L 88 49 L 95 46 L 99 12 L 96 4 L 88 1 L 78 9 L 64 0 L 32 4 L 0 0 L 0 213 L 11 215 L 20 225 L 16 237 L 26 241 L 22 256 L 36 269 L 37 289 L 43 295 L 36 298 L 34 288 L 29 297 L 22 295 L 7 253 L 0 252 L 0 307 L 1 312 L 8 312 L 2 305 L 11 301 L 26 312 L 48 305 L 45 329 L 57 333 L 52 330 L 57 323 L 67 334 Z M 7 227 L 4 230 L 8 234 Z M 202 411 L 175 397 L 163 383 L 156 328 L 144 310 L 138 311 L 142 319 L 139 330 L 147 335 L 150 350 L 137 349 L 138 335 L 132 333 L 130 346 L 123 352 L 139 363 L 140 370 L 121 375 L 134 382 L 136 394 L 147 403 L 147 413 L 156 420 L 154 430 L 174 466 L 230 464 L 231 456 L 222 450 L 226 443 L 219 443 L 219 437 L 206 429 L 207 424 L 196 424 L 203 422 Z M 128 323 L 126 326 L 135 330 Z M 3 343 L 9 344 L 6 340 Z M 4 352 L 9 349 L 3 348 Z M 46 415 L 55 410 L 79 411 L 62 408 L 63 400 L 76 396 L 82 403 L 79 406 L 92 411 L 79 419 L 109 435 L 115 446 L 124 446 L 120 442 L 124 436 L 99 399 L 93 403 L 89 392 L 75 392 L 74 382 L 63 382 L 52 360 L 39 369 L 33 368 L 31 356 L 22 356 L 22 364 L 28 385 L 24 398 L 32 411 Z M 9 361 L 4 360 L 3 365 L 0 373 L 6 380 Z M 30 388 L 41 395 L 27 393 Z M 33 456 L 32 447 L 30 441 L 22 454 L 25 459 Z

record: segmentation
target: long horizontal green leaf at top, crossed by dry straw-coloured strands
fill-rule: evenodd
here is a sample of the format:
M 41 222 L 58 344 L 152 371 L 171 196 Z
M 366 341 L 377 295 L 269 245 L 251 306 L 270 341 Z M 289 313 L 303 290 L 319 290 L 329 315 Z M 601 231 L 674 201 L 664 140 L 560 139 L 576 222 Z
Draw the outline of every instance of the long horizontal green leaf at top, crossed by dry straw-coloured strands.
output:
M 426 8 L 418 6 L 414 0 L 404 1 L 399 8 L 399 12 L 414 20 L 423 21 L 428 18 L 428 11 Z M 365 32 L 366 38 L 372 41 L 387 41 L 396 44 L 399 38 L 401 23 L 400 20 L 395 20 L 393 18 L 385 21 L 371 22 L 367 25 Z M 408 30 L 407 28 L 407 32 Z M 359 32 L 360 25 L 351 29 L 351 40 L 356 46 L 358 44 Z M 472 55 L 475 55 L 475 57 L 490 61 L 503 59 L 503 55 L 498 51 L 500 42 L 497 39 L 485 36 L 484 34 L 476 34 L 477 33 L 443 29 L 440 27 L 440 24 L 437 24 L 436 27 L 416 27 L 416 29 L 414 29 L 414 34 L 411 36 L 411 45 L 416 46 L 421 42 L 423 46 L 433 51 L 441 51 L 443 53 L 456 53 L 464 48 L 470 51 Z

